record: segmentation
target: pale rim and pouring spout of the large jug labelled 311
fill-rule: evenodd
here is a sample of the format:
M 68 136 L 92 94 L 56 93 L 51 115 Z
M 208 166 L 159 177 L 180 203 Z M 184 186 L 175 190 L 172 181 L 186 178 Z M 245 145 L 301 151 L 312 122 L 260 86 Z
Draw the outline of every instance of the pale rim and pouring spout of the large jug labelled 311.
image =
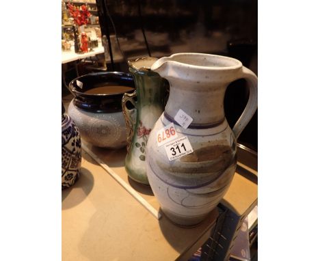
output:
M 186 62 L 176 61 L 173 59 L 176 57 L 183 57 L 183 56 L 185 56 L 185 57 L 187 57 L 187 56 L 189 56 L 189 57 L 201 56 L 202 59 L 204 59 L 204 60 L 206 60 L 206 58 L 208 58 L 208 57 L 210 57 L 211 59 L 218 58 L 217 61 L 230 62 L 230 66 L 200 66 L 197 64 L 191 64 L 191 63 L 188 64 Z M 201 70 L 203 70 L 203 69 L 205 69 L 205 70 L 235 70 L 235 69 L 239 69 L 243 66 L 241 61 L 239 61 L 238 59 L 224 56 L 224 55 L 213 55 L 213 54 L 209 54 L 209 53 L 174 53 L 173 55 L 170 55 L 169 57 L 162 57 L 162 58 L 158 59 L 157 61 L 155 61 L 155 63 L 152 64 L 152 66 L 151 66 L 151 70 L 157 70 L 157 68 L 160 68 L 167 61 L 170 61 L 173 64 L 177 64 L 179 66 L 201 69 Z

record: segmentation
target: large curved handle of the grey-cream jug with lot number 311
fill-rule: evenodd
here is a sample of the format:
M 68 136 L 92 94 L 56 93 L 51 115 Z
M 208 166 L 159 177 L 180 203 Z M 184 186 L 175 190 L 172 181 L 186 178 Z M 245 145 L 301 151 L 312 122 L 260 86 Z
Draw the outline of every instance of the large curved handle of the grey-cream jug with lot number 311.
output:
M 258 77 L 256 77 L 256 74 L 254 74 L 252 70 L 249 70 L 245 66 L 242 66 L 242 74 L 239 79 L 245 79 L 248 82 L 250 94 L 243 113 L 232 129 L 233 133 L 235 134 L 236 140 L 240 136 L 245 126 L 247 126 L 254 113 L 256 112 L 256 109 L 258 108 Z

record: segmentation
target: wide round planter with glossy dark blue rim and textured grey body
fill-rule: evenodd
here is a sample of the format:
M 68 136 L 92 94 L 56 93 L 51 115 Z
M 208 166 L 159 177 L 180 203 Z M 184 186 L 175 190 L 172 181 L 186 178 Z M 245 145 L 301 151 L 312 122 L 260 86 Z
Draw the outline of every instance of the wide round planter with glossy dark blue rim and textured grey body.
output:
M 81 82 L 81 87 L 78 83 Z M 126 146 L 126 124 L 122 115 L 122 96 L 118 93 L 89 94 L 87 91 L 107 85 L 122 85 L 135 89 L 131 74 L 124 72 L 94 72 L 72 80 L 69 89 L 75 98 L 68 115 L 75 122 L 81 138 L 93 146 L 119 149 Z

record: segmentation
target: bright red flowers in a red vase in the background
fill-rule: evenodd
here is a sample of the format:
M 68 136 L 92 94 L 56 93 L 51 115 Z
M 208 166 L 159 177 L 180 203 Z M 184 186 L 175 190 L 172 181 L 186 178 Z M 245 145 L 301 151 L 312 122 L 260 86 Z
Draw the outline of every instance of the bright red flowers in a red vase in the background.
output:
M 89 17 L 91 16 L 90 12 L 88 11 L 87 5 L 81 5 L 77 7 L 68 3 L 68 10 L 70 15 L 73 18 L 73 22 L 77 25 L 81 30 L 81 46 L 80 49 L 84 53 L 88 52 L 88 38 L 84 31 L 84 25 L 89 23 Z M 79 42 L 79 38 L 75 39 L 75 41 Z M 76 45 L 76 43 L 75 43 Z

